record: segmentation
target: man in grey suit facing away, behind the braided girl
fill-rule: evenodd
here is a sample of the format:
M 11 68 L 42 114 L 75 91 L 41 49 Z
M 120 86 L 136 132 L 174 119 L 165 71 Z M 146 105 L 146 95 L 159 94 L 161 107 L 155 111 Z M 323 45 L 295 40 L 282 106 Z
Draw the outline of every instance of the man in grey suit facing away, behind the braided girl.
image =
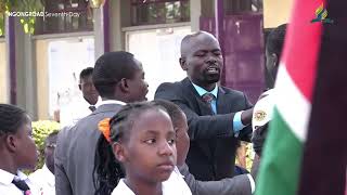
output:
M 98 123 L 114 116 L 128 102 L 144 101 L 147 83 L 142 65 L 131 53 L 110 52 L 97 62 L 93 83 L 102 98 L 100 106 L 76 126 L 59 133 L 55 150 L 56 195 L 93 195 L 93 167 Z

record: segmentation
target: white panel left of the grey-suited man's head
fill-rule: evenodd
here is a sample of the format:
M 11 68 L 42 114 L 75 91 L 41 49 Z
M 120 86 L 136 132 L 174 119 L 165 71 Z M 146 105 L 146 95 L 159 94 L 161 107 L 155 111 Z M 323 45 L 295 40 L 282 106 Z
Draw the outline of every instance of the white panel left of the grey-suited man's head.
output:
M 80 72 L 94 64 L 94 39 L 78 37 L 48 43 L 49 110 L 82 100 L 78 89 Z

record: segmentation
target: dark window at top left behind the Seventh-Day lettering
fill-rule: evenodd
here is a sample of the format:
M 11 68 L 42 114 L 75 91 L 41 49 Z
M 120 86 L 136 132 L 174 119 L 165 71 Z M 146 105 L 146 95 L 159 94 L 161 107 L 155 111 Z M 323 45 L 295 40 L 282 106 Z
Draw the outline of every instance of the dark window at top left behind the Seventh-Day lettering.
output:
M 59 34 L 93 30 L 92 9 L 86 0 L 42 0 L 44 12 L 37 17 L 36 34 Z

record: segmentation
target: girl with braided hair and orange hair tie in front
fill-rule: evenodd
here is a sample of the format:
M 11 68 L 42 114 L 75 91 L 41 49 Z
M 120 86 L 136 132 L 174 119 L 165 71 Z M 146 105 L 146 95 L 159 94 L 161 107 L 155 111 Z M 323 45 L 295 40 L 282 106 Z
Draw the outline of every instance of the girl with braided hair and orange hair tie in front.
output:
M 163 185 L 177 158 L 176 133 L 165 108 L 153 103 L 128 104 L 113 118 L 101 121 L 99 129 L 95 194 L 178 194 L 165 187 L 172 185 Z

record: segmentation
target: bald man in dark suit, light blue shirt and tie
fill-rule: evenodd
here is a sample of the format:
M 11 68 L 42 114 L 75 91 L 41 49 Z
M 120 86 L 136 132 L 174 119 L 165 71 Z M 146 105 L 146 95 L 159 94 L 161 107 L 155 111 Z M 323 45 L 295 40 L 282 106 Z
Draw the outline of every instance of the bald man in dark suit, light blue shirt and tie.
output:
M 176 103 L 187 115 L 191 140 L 187 164 L 193 176 L 202 181 L 232 178 L 237 139 L 249 141 L 252 134 L 252 105 L 244 93 L 218 86 L 223 58 L 213 35 L 185 36 L 180 65 L 188 78 L 162 83 L 155 99 Z

